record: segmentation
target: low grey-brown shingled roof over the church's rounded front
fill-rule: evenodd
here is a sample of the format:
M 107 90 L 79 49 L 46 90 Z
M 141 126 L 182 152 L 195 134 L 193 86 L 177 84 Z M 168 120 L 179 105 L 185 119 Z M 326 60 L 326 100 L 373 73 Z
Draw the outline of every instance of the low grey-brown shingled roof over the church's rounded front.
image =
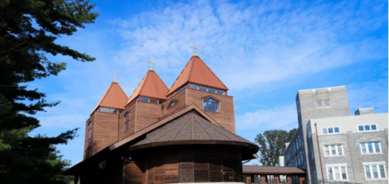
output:
M 254 143 L 213 124 L 193 111 L 153 129 L 147 133 L 146 139 L 131 146 L 130 150 L 188 144 L 243 146 L 249 148 L 251 155 L 258 150 L 258 146 Z

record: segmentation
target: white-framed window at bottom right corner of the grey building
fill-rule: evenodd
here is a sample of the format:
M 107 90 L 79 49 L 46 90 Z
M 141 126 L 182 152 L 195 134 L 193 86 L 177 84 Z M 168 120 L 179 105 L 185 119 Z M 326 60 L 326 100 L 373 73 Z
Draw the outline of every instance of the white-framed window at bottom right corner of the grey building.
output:
M 368 162 L 363 163 L 364 176 L 367 179 L 387 178 L 385 162 Z

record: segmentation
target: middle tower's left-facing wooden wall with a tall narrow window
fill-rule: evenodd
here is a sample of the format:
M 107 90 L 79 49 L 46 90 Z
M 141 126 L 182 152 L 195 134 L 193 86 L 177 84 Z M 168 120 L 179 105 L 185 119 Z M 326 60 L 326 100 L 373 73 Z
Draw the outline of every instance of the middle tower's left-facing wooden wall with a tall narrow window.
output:
M 128 127 L 128 130 L 124 131 L 124 115 L 126 112 L 130 113 L 130 125 Z M 137 116 L 137 105 L 136 101 L 132 102 L 127 108 L 125 108 L 124 111 L 122 111 L 119 115 L 119 126 L 118 126 L 118 141 L 124 139 L 125 137 L 130 136 L 131 134 L 135 133 L 135 124 L 137 123 L 136 116 Z

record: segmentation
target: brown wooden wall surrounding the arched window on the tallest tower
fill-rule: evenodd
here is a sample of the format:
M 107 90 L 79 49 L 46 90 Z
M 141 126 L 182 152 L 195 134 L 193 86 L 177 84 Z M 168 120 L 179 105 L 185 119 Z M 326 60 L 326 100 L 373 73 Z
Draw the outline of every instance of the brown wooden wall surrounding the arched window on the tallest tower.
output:
M 213 113 L 209 111 L 204 112 L 207 113 L 207 115 L 209 115 L 212 119 L 214 119 L 219 125 L 221 125 L 221 127 L 224 127 L 225 129 L 235 133 L 233 97 L 191 89 L 186 89 L 184 91 L 186 91 L 186 106 L 195 104 L 202 110 L 203 99 L 205 97 L 214 97 L 214 99 L 217 99 L 219 101 L 219 113 Z

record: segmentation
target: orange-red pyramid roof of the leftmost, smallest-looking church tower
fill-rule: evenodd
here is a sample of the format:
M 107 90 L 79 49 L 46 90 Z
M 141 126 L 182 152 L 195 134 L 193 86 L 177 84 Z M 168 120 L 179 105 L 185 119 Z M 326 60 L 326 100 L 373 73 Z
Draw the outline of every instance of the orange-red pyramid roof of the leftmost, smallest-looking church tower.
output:
M 116 82 L 112 82 L 92 112 L 96 111 L 99 106 L 123 109 L 127 99 L 127 94 L 121 89 L 121 86 Z

